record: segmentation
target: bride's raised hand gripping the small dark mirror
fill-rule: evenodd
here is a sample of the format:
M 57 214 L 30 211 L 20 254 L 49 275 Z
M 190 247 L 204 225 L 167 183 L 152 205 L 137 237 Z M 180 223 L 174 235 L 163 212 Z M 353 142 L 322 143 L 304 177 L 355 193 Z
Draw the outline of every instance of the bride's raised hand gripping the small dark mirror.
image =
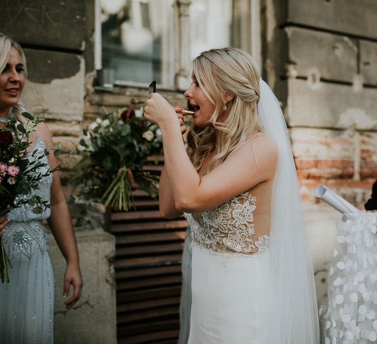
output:
M 144 108 L 144 117 L 160 128 L 163 123 L 172 123 L 176 120 L 174 108 L 159 93 L 151 93 Z

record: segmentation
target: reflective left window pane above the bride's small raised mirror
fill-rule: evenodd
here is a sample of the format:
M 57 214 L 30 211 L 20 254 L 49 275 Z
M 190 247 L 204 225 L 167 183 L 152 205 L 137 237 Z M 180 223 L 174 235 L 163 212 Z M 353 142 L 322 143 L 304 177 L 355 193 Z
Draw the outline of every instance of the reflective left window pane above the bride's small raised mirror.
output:
M 102 63 L 115 80 L 162 83 L 161 20 L 171 0 L 101 0 Z

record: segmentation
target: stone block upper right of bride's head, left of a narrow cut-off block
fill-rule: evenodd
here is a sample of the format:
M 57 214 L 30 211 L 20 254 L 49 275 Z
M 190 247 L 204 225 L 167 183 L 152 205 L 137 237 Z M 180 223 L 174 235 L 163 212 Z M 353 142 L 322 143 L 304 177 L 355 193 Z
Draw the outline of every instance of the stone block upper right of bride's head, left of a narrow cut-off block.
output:
M 289 36 L 291 76 L 353 82 L 357 73 L 357 43 L 347 36 L 295 27 Z M 292 75 L 292 74 L 295 75 Z

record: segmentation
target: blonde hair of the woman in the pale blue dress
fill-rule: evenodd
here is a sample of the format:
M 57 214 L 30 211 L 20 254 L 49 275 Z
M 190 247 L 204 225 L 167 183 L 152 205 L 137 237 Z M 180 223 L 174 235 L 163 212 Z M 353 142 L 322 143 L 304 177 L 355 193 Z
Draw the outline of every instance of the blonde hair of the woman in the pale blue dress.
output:
M 0 72 L 2 72 L 5 69 L 6 64 L 8 63 L 9 56 L 10 56 L 10 50 L 11 48 L 14 48 L 17 50 L 17 52 L 20 54 L 21 61 L 24 65 L 24 74 L 25 77 L 27 75 L 27 69 L 26 69 L 26 58 L 24 51 L 22 50 L 21 46 L 9 35 L 3 34 L 0 32 Z M 25 107 L 24 102 L 20 98 L 18 103 L 11 109 L 11 111 L 16 114 L 17 120 L 21 123 L 26 123 L 27 119 L 21 115 L 23 112 L 27 112 L 27 109 Z

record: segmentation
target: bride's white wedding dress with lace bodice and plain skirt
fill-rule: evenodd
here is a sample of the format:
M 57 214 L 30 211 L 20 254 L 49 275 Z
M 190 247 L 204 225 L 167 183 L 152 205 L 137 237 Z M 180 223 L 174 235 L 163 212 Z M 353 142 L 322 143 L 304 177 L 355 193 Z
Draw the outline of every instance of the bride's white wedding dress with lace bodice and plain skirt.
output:
M 189 344 L 280 343 L 271 189 L 269 182 L 213 210 L 185 214 L 192 240 Z

